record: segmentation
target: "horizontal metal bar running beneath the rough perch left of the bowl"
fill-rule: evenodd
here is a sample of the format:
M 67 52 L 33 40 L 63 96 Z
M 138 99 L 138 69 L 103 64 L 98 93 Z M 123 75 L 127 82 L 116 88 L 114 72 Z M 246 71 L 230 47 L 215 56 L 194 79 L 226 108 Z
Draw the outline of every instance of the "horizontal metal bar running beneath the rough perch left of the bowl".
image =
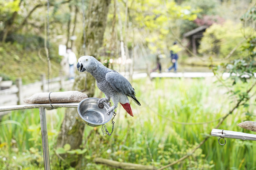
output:
M 67 108 L 76 108 L 78 106 L 76 103 L 53 103 L 54 108 L 58 107 L 67 107 Z M 10 110 L 21 110 L 21 109 L 35 109 L 35 108 L 51 108 L 50 104 L 22 104 L 22 105 L 11 105 L 11 106 L 0 106 L 0 111 L 10 111 Z

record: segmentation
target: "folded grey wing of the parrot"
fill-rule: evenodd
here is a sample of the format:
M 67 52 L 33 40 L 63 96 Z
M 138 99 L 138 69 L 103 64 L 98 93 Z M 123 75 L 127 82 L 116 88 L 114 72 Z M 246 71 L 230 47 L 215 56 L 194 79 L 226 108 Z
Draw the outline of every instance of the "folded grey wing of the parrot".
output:
M 129 96 L 140 106 L 139 101 L 135 97 L 134 88 L 124 76 L 116 71 L 110 71 L 106 74 L 106 80 L 116 91 Z

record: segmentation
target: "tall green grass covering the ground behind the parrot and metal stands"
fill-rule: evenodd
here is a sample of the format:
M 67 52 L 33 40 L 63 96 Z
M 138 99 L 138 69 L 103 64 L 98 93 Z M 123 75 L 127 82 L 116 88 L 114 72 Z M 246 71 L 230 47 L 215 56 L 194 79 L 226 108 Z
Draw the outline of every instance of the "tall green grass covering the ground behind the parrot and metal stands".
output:
M 234 106 L 233 98 L 226 89 L 211 79 L 148 79 L 132 82 L 141 106 L 132 103 L 134 117 L 117 108 L 112 136 L 102 136 L 101 127 L 86 127 L 82 148 L 82 166 L 88 170 L 112 170 L 93 163 L 97 157 L 154 165 L 157 168 L 178 160 L 192 151 L 210 134 L 218 121 L 202 125 L 183 125 L 177 122 L 208 122 L 227 114 Z M 237 85 L 246 90 L 249 85 Z M 96 97 L 102 97 L 99 90 Z M 245 113 L 256 110 L 255 98 L 249 107 L 239 107 L 226 119 L 220 129 L 253 133 L 237 124 L 254 120 Z M 52 115 L 52 116 L 49 116 Z M 57 109 L 47 117 L 50 157 L 54 154 L 56 135 L 64 117 L 64 109 Z M 8 122 L 10 121 L 11 122 Z M 175 123 L 175 122 L 176 123 Z M 41 132 L 37 109 L 13 111 L 0 123 L 0 167 L 4 170 L 43 169 Z M 111 123 L 107 124 L 111 129 Z M 14 142 L 15 140 L 15 142 Z M 256 143 L 237 139 L 226 139 L 219 145 L 218 137 L 210 137 L 188 159 L 174 165 L 180 170 L 253 170 L 256 168 Z M 16 156 L 16 159 L 13 159 Z M 3 161 L 3 158 L 5 158 Z M 25 159 L 26 158 L 26 159 Z M 55 162 L 51 162 L 53 169 Z M 170 169 L 170 168 L 169 168 Z

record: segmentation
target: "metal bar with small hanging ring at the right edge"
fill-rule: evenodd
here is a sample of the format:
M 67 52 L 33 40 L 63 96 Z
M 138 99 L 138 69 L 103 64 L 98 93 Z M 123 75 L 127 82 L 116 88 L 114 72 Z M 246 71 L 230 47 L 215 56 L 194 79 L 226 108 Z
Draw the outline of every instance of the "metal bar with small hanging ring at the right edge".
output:
M 254 140 L 254 141 L 256 140 L 256 135 L 242 133 L 242 132 L 235 132 L 230 130 L 222 130 L 222 129 L 212 129 L 211 136 L 242 139 L 242 140 Z

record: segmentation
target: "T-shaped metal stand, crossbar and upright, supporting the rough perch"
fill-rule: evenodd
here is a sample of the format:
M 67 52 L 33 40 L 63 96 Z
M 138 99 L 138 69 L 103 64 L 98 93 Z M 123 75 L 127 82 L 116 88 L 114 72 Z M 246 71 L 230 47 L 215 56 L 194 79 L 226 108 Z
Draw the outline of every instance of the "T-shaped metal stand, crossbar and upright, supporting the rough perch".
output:
M 48 146 L 48 135 L 47 135 L 47 125 L 46 125 L 46 108 L 77 108 L 79 103 L 53 103 L 53 104 L 23 104 L 23 105 L 13 105 L 13 106 L 1 106 L 0 111 L 10 111 L 10 110 L 22 110 L 22 109 L 39 109 L 40 114 L 40 124 L 41 124 L 41 134 L 42 134 L 42 146 L 44 154 L 44 166 L 45 170 L 50 170 L 50 156 L 49 156 L 49 146 Z

